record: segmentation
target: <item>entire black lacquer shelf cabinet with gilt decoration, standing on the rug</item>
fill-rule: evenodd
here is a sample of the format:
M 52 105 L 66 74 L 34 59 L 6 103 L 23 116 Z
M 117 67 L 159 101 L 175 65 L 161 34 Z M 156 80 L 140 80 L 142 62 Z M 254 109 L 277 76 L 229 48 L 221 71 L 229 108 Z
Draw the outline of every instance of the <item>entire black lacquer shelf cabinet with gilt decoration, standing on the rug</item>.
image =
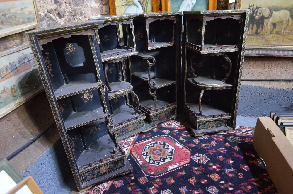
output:
M 118 141 L 161 122 L 234 130 L 248 15 L 142 13 L 28 33 L 79 190 L 131 172 Z

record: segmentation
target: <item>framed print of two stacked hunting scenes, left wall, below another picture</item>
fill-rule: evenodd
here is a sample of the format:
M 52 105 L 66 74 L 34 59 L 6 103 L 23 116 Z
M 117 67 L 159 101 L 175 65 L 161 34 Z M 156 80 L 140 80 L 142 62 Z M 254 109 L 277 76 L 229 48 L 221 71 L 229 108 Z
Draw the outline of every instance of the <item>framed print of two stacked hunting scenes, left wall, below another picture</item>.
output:
M 29 44 L 0 52 L 0 118 L 42 90 Z

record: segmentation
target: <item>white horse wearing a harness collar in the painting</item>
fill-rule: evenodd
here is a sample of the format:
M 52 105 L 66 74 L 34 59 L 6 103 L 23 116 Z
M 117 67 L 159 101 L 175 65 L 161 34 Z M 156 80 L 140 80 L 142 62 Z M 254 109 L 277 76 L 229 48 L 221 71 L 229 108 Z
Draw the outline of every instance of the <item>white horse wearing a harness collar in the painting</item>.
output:
M 261 17 L 263 17 L 264 20 L 264 28 L 262 32 L 264 34 L 270 34 L 271 23 L 281 23 L 280 34 L 285 33 L 286 28 L 291 25 L 290 12 L 285 9 L 280 11 L 273 11 L 272 9 L 259 8 L 255 19 L 259 20 Z M 275 31 L 276 30 L 274 29 L 272 33 L 275 33 Z

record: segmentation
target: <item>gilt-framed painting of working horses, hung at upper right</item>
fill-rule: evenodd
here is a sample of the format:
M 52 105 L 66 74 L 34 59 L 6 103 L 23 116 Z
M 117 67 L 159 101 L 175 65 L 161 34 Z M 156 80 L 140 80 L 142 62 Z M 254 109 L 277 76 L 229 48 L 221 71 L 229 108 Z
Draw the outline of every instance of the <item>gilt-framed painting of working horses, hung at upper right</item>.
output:
M 235 9 L 250 9 L 245 55 L 293 56 L 293 1 L 236 0 Z

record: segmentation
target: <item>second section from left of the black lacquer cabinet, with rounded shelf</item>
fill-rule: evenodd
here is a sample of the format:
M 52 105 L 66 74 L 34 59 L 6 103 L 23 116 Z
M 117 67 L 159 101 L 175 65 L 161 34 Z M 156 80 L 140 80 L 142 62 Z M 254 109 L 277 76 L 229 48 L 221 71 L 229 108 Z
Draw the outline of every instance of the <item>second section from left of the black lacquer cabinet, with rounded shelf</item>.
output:
M 110 110 L 113 114 L 113 126 L 116 131 L 118 140 L 125 139 L 131 135 L 135 135 L 145 130 L 144 114 L 138 112 L 138 107 L 132 105 L 132 101 L 139 104 L 139 98 L 133 91 L 133 86 L 130 83 L 130 74 L 128 73 L 129 58 L 126 56 L 136 55 L 136 48 L 134 48 L 134 33 L 132 26 L 132 18 L 126 18 L 122 21 L 112 21 L 115 17 L 108 17 L 105 24 L 98 27 L 100 36 L 100 48 L 103 57 L 108 57 L 103 61 L 103 68 L 105 73 L 105 80 L 107 84 L 107 92 L 110 103 Z M 111 36 L 112 38 L 108 37 Z M 115 41 L 123 47 L 131 47 L 130 53 L 120 55 L 108 55 L 108 50 L 113 48 Z M 105 41 L 107 40 L 107 41 Z M 121 41 L 122 40 L 122 41 Z M 115 51 L 117 49 L 114 49 Z

